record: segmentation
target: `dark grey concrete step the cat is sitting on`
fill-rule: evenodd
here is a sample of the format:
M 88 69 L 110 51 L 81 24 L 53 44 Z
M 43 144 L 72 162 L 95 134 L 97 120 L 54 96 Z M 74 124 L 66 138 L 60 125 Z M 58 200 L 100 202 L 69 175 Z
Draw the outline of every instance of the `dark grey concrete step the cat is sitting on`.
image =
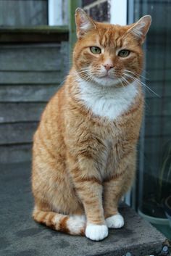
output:
M 110 230 L 107 239 L 99 242 L 35 223 L 30 163 L 1 165 L 0 202 L 1 256 L 168 255 L 162 251 L 166 238 L 128 206 L 120 208 L 125 226 Z

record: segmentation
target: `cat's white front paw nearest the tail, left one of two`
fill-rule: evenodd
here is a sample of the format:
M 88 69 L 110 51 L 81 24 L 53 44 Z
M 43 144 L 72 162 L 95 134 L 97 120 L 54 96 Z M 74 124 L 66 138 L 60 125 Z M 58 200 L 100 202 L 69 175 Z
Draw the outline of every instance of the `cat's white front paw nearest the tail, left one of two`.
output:
M 86 227 L 86 237 L 93 241 L 103 240 L 108 236 L 108 228 L 106 225 L 88 224 Z

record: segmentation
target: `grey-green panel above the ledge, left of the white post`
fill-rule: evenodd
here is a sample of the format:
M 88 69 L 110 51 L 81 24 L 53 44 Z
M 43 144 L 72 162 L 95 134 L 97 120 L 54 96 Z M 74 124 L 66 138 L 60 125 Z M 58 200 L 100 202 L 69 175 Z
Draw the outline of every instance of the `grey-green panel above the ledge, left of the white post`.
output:
M 0 9 L 0 25 L 2 26 L 47 24 L 46 0 L 1 0 Z

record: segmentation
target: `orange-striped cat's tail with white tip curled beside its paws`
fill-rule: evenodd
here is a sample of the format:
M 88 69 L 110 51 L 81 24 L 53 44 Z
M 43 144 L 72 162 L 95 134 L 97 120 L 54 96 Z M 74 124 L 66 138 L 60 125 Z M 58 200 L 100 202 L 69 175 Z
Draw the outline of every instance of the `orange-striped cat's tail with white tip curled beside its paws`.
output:
M 33 219 L 57 231 L 85 236 L 86 218 L 84 215 L 63 215 L 57 212 L 42 211 L 35 207 Z

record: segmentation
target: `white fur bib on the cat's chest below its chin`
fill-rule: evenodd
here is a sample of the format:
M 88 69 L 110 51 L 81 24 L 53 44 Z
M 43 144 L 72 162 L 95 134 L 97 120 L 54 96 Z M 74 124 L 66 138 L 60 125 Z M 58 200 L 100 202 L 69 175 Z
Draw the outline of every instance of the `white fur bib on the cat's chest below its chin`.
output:
M 114 120 L 133 104 L 138 88 L 135 82 L 120 88 L 101 88 L 85 81 L 80 82 L 80 99 L 94 115 Z

